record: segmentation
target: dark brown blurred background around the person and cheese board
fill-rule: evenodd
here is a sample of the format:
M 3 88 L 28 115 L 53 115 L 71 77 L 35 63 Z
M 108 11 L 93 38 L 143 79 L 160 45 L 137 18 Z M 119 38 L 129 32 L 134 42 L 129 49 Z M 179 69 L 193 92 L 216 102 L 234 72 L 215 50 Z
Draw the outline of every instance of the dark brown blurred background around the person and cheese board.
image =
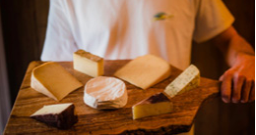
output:
M 255 1 L 224 0 L 237 31 L 255 48 Z M 48 0 L 0 0 L 0 133 L 32 61 L 39 61 L 49 9 Z M 193 43 L 192 63 L 204 77 L 219 79 L 226 69 L 222 54 L 211 45 Z M 255 103 L 205 102 L 195 119 L 197 135 L 255 134 Z

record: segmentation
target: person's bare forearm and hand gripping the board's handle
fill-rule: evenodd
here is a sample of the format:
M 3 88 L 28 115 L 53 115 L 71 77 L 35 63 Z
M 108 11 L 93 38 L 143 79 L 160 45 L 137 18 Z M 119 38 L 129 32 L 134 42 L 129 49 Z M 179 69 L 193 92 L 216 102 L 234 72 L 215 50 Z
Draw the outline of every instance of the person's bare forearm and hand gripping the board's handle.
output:
M 213 42 L 224 54 L 228 68 L 220 77 L 222 99 L 225 103 L 246 103 L 255 99 L 255 53 L 230 26 L 214 37 Z

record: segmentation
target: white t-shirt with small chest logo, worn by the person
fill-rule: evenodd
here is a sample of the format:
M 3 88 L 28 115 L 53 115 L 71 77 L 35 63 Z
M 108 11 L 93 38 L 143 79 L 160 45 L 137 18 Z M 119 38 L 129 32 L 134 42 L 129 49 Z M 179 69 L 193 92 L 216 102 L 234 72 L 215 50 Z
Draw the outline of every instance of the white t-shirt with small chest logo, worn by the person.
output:
M 153 21 L 158 13 L 171 18 Z M 191 43 L 234 21 L 222 0 L 50 0 L 42 61 L 72 61 L 84 49 L 105 60 L 153 54 L 184 69 Z

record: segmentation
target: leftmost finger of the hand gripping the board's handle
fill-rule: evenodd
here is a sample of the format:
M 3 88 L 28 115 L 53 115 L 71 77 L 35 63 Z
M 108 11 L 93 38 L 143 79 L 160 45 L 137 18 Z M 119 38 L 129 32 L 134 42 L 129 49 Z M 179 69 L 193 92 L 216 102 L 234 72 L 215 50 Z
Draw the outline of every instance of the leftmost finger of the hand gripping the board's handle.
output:
M 231 83 L 232 83 L 232 75 L 229 73 L 224 73 L 221 77 L 223 83 L 221 87 L 222 99 L 224 103 L 230 102 L 230 95 L 231 95 Z

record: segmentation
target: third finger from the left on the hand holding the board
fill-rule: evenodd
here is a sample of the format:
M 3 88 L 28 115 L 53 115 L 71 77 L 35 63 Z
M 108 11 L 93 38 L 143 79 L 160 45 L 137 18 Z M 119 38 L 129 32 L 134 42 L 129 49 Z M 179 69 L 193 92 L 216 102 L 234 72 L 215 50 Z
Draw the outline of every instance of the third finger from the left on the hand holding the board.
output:
M 241 103 L 247 103 L 251 91 L 252 80 L 245 80 L 241 93 Z

